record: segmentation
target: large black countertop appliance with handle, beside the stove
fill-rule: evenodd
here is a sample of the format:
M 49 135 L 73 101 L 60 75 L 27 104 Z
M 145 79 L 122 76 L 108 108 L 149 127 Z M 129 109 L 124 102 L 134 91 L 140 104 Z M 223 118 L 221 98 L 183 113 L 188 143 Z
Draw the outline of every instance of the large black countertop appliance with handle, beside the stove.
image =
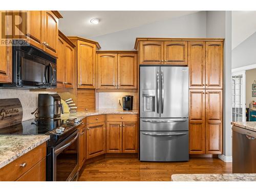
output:
M 58 94 L 38 94 L 38 118 L 53 119 L 63 114 L 61 98 Z

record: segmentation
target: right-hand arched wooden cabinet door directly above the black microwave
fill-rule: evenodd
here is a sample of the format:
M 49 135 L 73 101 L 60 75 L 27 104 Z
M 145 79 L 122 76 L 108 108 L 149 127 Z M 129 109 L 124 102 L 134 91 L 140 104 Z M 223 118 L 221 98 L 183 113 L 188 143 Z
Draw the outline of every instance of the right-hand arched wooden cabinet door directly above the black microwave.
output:
M 51 11 L 45 11 L 44 29 L 45 51 L 53 56 L 57 56 L 58 18 Z

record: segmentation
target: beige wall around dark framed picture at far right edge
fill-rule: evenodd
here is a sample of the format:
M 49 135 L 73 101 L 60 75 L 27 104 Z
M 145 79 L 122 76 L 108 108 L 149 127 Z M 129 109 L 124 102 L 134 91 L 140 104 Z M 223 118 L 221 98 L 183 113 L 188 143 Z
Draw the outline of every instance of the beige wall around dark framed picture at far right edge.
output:
M 256 101 L 256 97 L 251 96 L 251 84 L 256 80 L 256 69 L 246 70 L 246 81 L 245 81 L 245 95 L 246 95 L 246 108 L 249 108 L 249 103 L 251 101 Z

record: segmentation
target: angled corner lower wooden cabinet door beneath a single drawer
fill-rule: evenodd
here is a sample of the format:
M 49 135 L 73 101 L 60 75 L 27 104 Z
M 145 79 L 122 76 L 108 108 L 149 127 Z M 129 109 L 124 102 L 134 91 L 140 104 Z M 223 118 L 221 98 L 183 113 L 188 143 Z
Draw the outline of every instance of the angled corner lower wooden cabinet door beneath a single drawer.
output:
M 105 123 L 87 125 L 87 159 L 105 153 Z

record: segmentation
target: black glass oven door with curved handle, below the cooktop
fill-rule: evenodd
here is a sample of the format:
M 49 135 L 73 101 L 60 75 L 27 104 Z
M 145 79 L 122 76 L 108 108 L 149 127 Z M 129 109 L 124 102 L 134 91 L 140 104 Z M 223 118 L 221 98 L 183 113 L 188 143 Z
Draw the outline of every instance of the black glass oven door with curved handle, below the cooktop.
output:
M 71 181 L 78 172 L 78 131 L 53 148 L 53 181 Z

